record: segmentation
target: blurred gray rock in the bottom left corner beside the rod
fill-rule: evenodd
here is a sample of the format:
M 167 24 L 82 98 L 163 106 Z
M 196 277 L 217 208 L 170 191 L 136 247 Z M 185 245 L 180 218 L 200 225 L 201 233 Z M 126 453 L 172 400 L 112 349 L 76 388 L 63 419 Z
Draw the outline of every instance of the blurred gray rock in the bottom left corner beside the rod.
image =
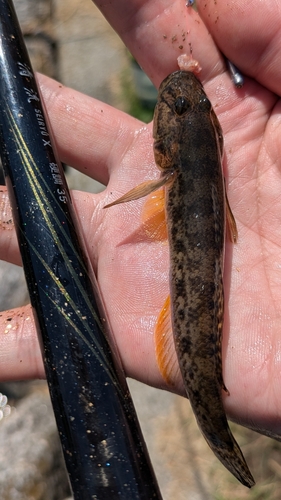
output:
M 24 398 L 0 421 L 1 500 L 61 500 L 68 479 L 47 390 Z

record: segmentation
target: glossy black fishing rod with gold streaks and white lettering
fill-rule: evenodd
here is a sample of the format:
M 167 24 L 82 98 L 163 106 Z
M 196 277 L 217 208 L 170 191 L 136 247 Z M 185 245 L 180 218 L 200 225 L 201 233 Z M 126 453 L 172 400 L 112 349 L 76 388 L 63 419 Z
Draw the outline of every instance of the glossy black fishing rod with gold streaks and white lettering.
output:
M 0 152 L 75 500 L 161 499 L 11 0 Z

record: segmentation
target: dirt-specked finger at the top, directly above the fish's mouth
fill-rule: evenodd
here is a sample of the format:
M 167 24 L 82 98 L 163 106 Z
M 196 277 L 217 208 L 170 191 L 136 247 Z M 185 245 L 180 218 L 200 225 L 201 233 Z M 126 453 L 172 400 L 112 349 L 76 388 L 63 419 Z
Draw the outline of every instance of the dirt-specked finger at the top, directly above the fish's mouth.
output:
M 94 1 L 157 87 L 178 69 L 177 57 L 189 53 L 190 44 L 203 80 L 224 68 L 204 23 L 185 0 Z

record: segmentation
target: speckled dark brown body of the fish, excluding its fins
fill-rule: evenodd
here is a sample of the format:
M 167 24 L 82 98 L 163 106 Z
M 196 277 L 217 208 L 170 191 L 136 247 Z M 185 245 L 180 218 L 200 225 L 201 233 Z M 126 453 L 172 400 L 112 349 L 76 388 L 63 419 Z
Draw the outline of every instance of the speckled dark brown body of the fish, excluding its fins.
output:
M 186 392 L 215 455 L 251 487 L 253 477 L 222 403 L 223 139 L 211 103 L 193 73 L 176 71 L 162 82 L 154 139 L 162 175 L 172 173 L 165 194 L 172 325 Z

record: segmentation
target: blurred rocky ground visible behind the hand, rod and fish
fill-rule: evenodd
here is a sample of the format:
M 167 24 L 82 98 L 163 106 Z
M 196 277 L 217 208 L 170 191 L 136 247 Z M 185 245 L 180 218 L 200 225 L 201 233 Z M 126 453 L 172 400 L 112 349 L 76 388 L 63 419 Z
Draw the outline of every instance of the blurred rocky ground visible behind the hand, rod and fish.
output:
M 14 4 L 34 69 L 151 119 L 155 89 L 91 0 Z M 71 188 L 103 189 L 69 167 L 66 173 Z M 0 262 L 0 276 L 0 310 L 28 301 L 20 268 Z M 234 426 L 258 483 L 246 490 L 208 449 L 188 401 L 129 385 L 164 500 L 280 499 L 279 443 Z M 65 500 L 70 491 L 46 383 L 13 382 L 0 391 L 0 499 Z

